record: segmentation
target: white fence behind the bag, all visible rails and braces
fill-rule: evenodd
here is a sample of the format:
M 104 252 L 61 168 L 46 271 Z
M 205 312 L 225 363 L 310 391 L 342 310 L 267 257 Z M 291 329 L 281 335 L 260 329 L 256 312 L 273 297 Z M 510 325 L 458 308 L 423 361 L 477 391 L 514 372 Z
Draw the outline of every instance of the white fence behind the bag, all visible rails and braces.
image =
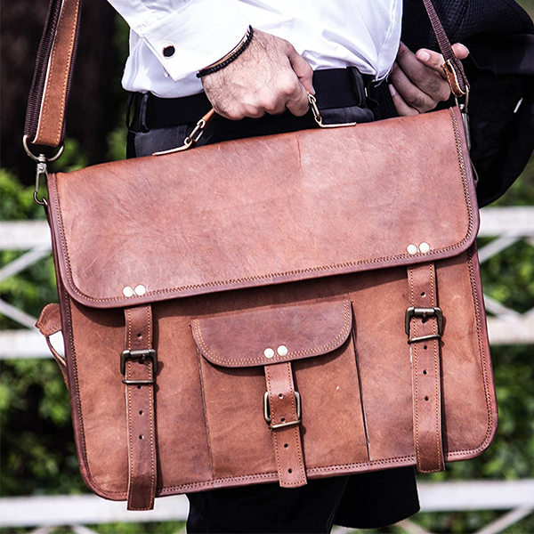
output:
M 481 263 L 498 255 L 517 241 L 534 247 L 534 207 L 484 208 L 481 210 L 481 237 L 496 238 L 479 250 Z M 0 281 L 9 279 L 50 254 L 46 223 L 0 223 L 0 250 L 28 251 L 0 269 Z M 534 308 L 520 313 L 485 295 L 491 344 L 534 344 Z M 0 300 L 0 313 L 24 328 L 0 332 L 0 359 L 49 358 L 42 337 L 36 333 L 36 318 Z M 56 343 L 61 346 L 61 340 Z M 458 481 L 420 483 L 422 512 L 505 510 L 496 522 L 479 534 L 498 534 L 534 513 L 534 479 L 523 481 Z M 187 499 L 158 499 L 151 512 L 127 512 L 124 503 L 105 501 L 93 495 L 1 498 L 0 527 L 39 527 L 34 534 L 47 534 L 55 526 L 69 525 L 76 534 L 91 534 L 83 524 L 107 522 L 158 522 L 183 520 Z M 425 534 L 413 522 L 401 522 L 409 534 Z M 341 534 L 346 530 L 336 528 Z

